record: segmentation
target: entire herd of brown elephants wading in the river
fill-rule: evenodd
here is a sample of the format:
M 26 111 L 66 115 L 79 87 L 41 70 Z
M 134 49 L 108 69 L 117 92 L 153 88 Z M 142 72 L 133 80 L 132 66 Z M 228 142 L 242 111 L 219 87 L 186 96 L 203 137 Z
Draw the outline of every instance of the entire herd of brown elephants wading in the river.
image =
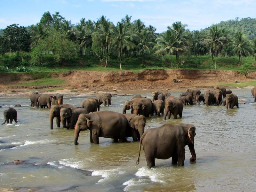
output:
M 256 101 L 256 87 L 252 88 L 254 102 Z M 223 99 L 222 99 L 223 97 Z M 185 146 L 188 145 L 192 157 L 190 161 L 196 161 L 194 149 L 194 137 L 196 128 L 193 124 L 164 124 L 144 132 L 146 118 L 152 115 L 163 115 L 170 119 L 177 115 L 182 117 L 183 105 L 200 104 L 202 101 L 206 106 L 227 105 L 228 108 L 238 108 L 238 98 L 231 90 L 225 87 L 215 86 L 212 90 L 204 92 L 197 88 L 187 89 L 180 97 L 171 96 L 170 92 L 152 92 L 152 99 L 135 95 L 131 100 L 124 102 L 123 112 L 100 111 L 100 105 L 111 105 L 112 95 L 110 93 L 98 93 L 96 98 L 85 99 L 81 107 L 73 107 L 63 104 L 61 94 L 39 94 L 30 92 L 31 107 L 50 108 L 50 128 L 53 129 L 53 119 L 56 118 L 57 127 L 60 123 L 63 128 L 74 129 L 74 144 L 78 145 L 78 137 L 81 131 L 90 130 L 90 142 L 99 144 L 99 137 L 113 138 L 114 141 L 124 142 L 126 138 L 132 137 L 133 141 L 139 143 L 140 161 L 141 144 L 145 153 L 148 167 L 155 166 L 155 159 L 168 159 L 172 157 L 172 164 L 184 165 Z M 126 110 L 130 110 L 126 114 Z M 164 113 L 165 109 L 165 113 Z M 97 111 L 98 110 L 98 111 Z M 4 111 L 4 123 L 17 123 L 17 111 L 8 108 Z M 3 124 L 4 124 L 3 123 Z

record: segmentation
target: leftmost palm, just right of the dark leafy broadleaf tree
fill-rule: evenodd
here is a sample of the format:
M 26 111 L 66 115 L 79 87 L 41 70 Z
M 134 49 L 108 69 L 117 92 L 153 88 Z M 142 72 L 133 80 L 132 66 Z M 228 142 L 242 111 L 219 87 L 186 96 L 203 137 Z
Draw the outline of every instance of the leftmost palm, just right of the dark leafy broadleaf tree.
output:
M 42 40 L 47 34 L 46 31 L 47 31 L 47 28 L 45 28 L 42 23 L 37 23 L 36 25 L 32 25 L 29 28 L 32 44 L 37 44 L 40 40 Z

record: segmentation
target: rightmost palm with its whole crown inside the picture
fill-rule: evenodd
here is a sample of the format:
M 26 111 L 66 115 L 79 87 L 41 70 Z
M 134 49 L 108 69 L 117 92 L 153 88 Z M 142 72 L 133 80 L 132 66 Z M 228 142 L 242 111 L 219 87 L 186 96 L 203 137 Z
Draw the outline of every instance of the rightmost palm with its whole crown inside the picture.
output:
M 242 64 L 242 56 L 248 56 L 252 52 L 250 43 L 247 39 L 243 37 L 243 33 L 238 31 L 233 36 L 234 42 L 229 48 L 231 53 L 239 57 L 239 61 Z

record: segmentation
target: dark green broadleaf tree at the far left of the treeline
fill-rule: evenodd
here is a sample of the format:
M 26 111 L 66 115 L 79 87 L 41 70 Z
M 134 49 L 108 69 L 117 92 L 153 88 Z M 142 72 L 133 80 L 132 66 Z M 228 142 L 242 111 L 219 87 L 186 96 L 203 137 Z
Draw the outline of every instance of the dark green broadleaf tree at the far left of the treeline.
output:
M 19 51 L 21 53 L 21 60 L 23 60 L 23 52 L 27 52 L 29 49 L 29 34 L 25 27 L 19 27 L 18 25 L 12 24 L 5 28 L 4 38 L 6 38 L 6 45 L 10 53 Z

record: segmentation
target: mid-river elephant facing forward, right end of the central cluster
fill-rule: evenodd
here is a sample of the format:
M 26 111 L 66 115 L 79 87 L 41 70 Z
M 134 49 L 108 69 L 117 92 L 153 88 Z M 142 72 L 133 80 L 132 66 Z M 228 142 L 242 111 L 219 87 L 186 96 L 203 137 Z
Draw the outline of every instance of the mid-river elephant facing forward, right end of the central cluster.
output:
M 171 113 L 173 114 L 174 119 L 177 119 L 177 115 L 179 114 L 180 118 L 182 117 L 183 104 L 180 99 L 172 99 L 165 100 L 165 115 L 164 120 L 166 120 L 166 116 L 168 115 L 168 119 L 171 118 Z

